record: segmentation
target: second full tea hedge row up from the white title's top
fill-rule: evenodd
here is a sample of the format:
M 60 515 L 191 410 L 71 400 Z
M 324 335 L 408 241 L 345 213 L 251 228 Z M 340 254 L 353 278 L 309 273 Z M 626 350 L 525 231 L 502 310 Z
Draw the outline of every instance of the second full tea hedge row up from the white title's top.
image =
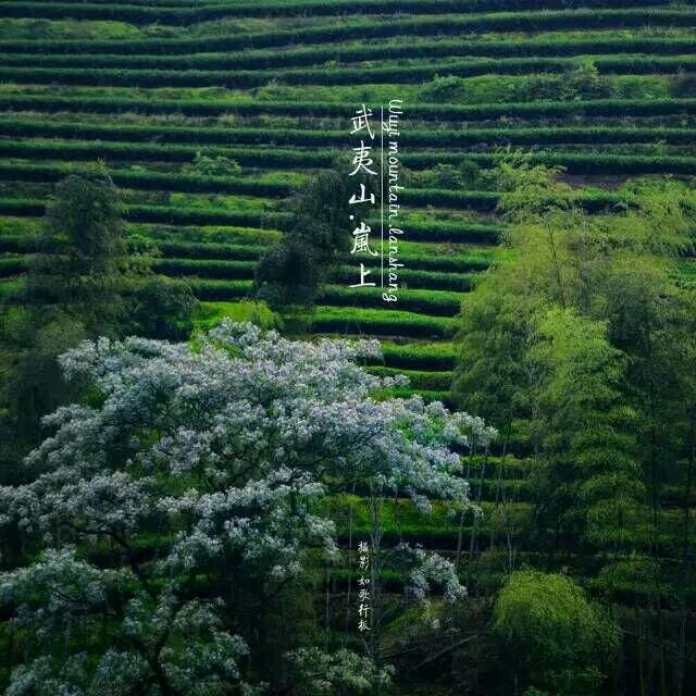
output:
M 146 49 L 147 50 L 147 49 Z M 696 52 L 691 38 L 601 38 L 571 40 L 513 39 L 488 41 L 411 41 L 382 46 L 334 46 L 331 48 L 300 48 L 287 51 L 246 51 L 241 53 L 203 53 L 191 55 L 151 55 L 114 53 L 5 53 L 0 63 L 8 67 L 89 67 L 160 71 L 221 71 L 269 70 L 321 65 L 328 61 L 358 63 L 376 60 L 417 58 L 550 58 L 583 54 L 647 53 L 655 55 L 685 55 Z

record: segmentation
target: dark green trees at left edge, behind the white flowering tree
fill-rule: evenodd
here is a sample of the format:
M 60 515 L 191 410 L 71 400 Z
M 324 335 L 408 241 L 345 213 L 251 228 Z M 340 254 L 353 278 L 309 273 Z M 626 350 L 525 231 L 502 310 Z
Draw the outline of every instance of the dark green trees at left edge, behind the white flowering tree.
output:
M 190 332 L 190 288 L 154 276 L 147 258 L 128 253 L 122 213 L 103 165 L 67 176 L 47 206 L 26 282 L 11 298 L 21 309 L 0 307 L 0 428 L 11 431 L 0 457 L 10 470 L 40 436 L 41 417 L 79 389 L 60 378 L 58 355 L 97 335 L 182 339 Z

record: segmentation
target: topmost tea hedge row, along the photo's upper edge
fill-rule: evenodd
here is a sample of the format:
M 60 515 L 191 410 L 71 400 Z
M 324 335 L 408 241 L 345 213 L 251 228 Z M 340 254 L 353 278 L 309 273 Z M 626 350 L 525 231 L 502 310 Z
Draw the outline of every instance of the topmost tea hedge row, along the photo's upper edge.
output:
M 670 0 L 613 0 L 618 8 L 664 5 Z M 191 24 L 225 16 L 270 17 L 270 16 L 328 16 L 343 14 L 424 14 L 437 12 L 492 12 L 504 10 L 538 10 L 606 8 L 608 0 L 316 0 L 300 2 L 221 2 L 212 1 L 191 8 L 190 0 L 150 0 L 147 3 L 127 0 L 113 3 L 109 0 L 34 0 L 28 2 L 4 2 L 7 16 L 63 17 L 82 20 L 119 20 L 132 23 L 161 22 L 163 24 Z M 108 7 L 107 7 L 108 5 Z M 8 12 L 5 12 L 8 10 Z M 26 15 L 23 13 L 29 12 Z

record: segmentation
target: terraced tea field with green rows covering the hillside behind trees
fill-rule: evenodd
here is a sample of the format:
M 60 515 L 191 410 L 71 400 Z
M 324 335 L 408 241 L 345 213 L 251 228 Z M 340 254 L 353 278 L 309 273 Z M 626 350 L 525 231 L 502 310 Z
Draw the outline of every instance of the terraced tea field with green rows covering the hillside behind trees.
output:
M 345 258 L 316 310 L 287 326 L 377 335 L 375 370 L 407 370 L 428 397 L 447 397 L 456 315 L 505 231 L 485 176 L 497 148 L 562 164 L 595 209 L 618 202 L 625 177 L 696 173 L 686 3 L 3 0 L 0 16 L 7 291 L 52 184 L 103 160 L 134 240 L 162 253 L 156 268 L 189 279 L 209 318 L 234 314 L 287 197 L 350 147 L 353 110 L 402 99 L 398 307 L 349 288 Z M 238 166 L 200 175 L 197 152 Z

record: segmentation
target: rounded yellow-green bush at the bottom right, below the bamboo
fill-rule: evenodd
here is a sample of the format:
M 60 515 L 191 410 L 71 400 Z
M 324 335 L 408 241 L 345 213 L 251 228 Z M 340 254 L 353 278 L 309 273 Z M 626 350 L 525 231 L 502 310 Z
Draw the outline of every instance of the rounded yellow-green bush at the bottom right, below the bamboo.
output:
M 513 573 L 494 610 L 496 630 L 533 691 L 597 694 L 619 648 L 618 626 L 569 577 Z

